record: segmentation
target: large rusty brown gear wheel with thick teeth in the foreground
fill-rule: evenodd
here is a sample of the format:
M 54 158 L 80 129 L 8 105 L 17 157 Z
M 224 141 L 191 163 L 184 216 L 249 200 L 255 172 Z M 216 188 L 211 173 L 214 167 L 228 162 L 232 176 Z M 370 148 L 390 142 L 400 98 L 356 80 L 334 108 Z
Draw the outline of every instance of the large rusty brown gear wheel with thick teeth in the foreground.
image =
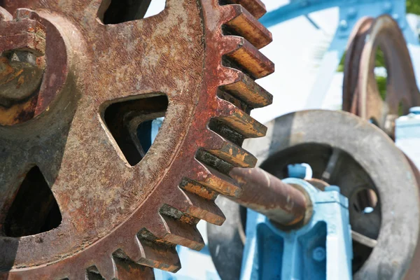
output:
M 216 196 L 241 192 L 230 169 L 255 165 L 240 146 L 265 135 L 249 112 L 272 102 L 254 81 L 274 71 L 258 51 L 272 41 L 256 20 L 264 5 L 167 0 L 150 18 L 119 17 L 116 9 L 106 22 L 109 0 L 0 3 L 10 14 L 33 10 L 46 34 L 38 90 L 0 106 L 0 279 L 175 272 L 177 244 L 204 246 L 197 222 L 223 223 Z M 141 3 L 130 13 L 144 15 Z M 6 10 L 1 19 L 10 21 Z M 136 128 L 162 116 L 145 153 Z M 43 232 L 54 203 L 16 204 L 22 186 L 40 195 L 33 172 L 62 216 Z

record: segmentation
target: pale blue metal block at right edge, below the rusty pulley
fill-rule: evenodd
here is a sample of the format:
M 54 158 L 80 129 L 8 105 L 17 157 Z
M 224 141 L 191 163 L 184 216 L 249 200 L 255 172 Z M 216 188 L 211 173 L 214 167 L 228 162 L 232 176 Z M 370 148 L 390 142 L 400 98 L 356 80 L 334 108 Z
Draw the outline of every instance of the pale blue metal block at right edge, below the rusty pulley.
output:
M 396 120 L 395 144 L 420 169 L 420 107 Z

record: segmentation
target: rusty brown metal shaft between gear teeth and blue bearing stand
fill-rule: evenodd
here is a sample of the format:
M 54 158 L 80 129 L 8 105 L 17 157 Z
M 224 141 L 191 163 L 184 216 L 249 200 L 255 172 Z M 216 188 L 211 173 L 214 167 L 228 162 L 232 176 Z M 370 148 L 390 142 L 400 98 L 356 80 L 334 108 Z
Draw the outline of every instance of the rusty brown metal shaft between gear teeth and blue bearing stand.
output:
M 239 183 L 242 194 L 229 199 L 244 207 L 258 211 L 281 225 L 295 225 L 307 214 L 311 202 L 303 191 L 258 167 L 234 168 L 230 176 Z

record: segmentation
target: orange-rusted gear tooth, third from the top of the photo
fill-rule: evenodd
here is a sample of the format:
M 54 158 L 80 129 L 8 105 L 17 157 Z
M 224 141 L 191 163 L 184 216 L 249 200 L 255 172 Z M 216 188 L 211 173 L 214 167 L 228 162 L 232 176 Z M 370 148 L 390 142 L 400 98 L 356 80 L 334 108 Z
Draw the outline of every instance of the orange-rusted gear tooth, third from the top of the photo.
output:
M 274 63 L 244 38 L 225 36 L 227 43 L 223 65 L 244 71 L 254 79 L 274 72 Z

